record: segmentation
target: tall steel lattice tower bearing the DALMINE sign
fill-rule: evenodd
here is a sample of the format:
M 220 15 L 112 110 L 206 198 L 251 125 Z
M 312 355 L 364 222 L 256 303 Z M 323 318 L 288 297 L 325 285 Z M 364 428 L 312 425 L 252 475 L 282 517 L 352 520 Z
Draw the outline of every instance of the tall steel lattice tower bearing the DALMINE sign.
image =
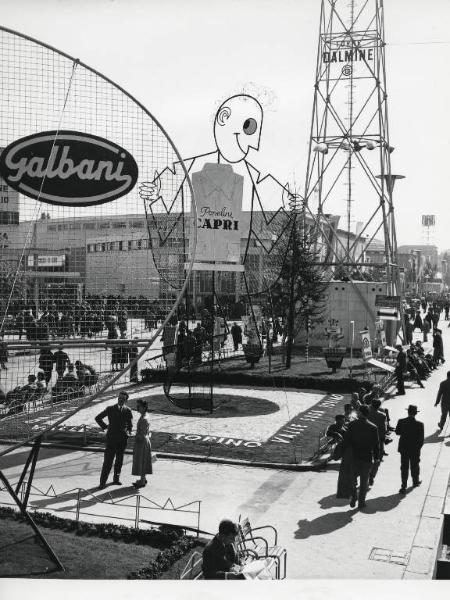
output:
M 388 293 L 399 288 L 382 0 L 322 0 L 305 210 L 327 265 L 351 279 L 374 239 L 384 243 Z M 315 190 L 318 193 L 315 194 Z M 331 214 L 346 230 L 331 243 Z M 361 224 L 362 222 L 362 224 Z M 358 223 L 358 225 L 357 225 Z

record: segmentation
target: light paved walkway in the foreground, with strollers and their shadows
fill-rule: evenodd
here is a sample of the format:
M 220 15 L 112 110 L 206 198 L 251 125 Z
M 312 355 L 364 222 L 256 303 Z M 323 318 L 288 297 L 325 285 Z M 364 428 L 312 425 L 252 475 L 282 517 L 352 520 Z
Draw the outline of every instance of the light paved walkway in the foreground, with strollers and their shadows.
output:
M 450 330 L 444 329 L 450 347 Z M 159 460 L 145 488 L 145 496 L 163 504 L 168 497 L 181 505 L 201 500 L 201 529 L 215 532 L 218 521 L 248 515 L 255 525 L 272 524 L 288 550 L 290 579 L 429 579 L 439 542 L 442 510 L 450 465 L 447 427 L 437 432 L 440 410 L 434 408 L 439 382 L 447 365 L 434 371 L 425 389 L 409 384 L 407 394 L 386 401 L 392 424 L 406 415 L 408 404 L 417 404 L 425 423 L 419 488 L 400 487 L 400 459 L 396 440 L 386 447 L 389 455 L 380 468 L 367 498 L 367 508 L 351 509 L 336 500 L 337 470 L 289 472 L 254 467 Z M 17 480 L 25 450 L 3 457 L 2 465 Z M 123 481 L 129 484 L 131 457 L 127 456 Z M 102 455 L 95 452 L 44 450 L 35 485 L 42 491 L 53 485 L 57 493 L 81 487 L 95 492 Z M 111 492 L 111 496 L 110 496 Z M 109 487 L 99 499 L 125 498 L 133 488 Z M 32 496 L 39 509 L 58 508 L 58 501 Z M 72 505 L 74 506 L 74 497 Z M 95 500 L 89 504 L 93 506 Z M 69 505 L 61 505 L 62 511 Z M 124 508 L 125 510 L 125 508 Z M 62 513 L 63 514 L 63 513 Z M 123 514 L 121 515 L 123 516 Z M 83 516 L 81 517 L 83 518 Z

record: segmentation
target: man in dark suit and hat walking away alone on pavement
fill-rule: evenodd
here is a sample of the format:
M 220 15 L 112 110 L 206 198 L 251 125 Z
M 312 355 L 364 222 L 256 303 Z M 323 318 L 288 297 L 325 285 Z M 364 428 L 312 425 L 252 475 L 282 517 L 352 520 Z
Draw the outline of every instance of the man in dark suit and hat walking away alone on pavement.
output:
M 408 406 L 408 416 L 405 419 L 399 419 L 395 433 L 400 436 L 398 441 L 398 451 L 400 452 L 400 472 L 402 476 L 402 487 L 400 494 L 406 492 L 408 483 L 408 473 L 411 469 L 413 486 L 417 487 L 422 482 L 420 475 L 420 450 L 423 446 L 424 427 L 421 421 L 416 421 L 417 406 L 410 404 Z

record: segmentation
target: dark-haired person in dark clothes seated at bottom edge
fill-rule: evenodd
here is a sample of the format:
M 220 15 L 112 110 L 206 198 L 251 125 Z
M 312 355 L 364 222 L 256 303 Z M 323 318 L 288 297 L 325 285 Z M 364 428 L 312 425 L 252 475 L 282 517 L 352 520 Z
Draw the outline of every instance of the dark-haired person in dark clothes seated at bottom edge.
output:
M 202 571 L 205 579 L 244 579 L 236 555 L 234 543 L 238 526 L 224 519 L 219 524 L 219 532 L 203 550 Z

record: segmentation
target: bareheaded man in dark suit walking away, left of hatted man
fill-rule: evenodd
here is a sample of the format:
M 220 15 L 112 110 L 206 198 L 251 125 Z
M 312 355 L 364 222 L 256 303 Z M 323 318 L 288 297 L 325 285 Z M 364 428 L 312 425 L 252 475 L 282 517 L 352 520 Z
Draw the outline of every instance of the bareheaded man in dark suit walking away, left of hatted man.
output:
M 380 443 L 376 425 L 368 420 L 369 407 L 362 405 L 358 418 L 352 421 L 345 436 L 345 445 L 350 446 L 353 455 L 353 485 L 350 506 L 356 505 L 356 486 L 359 477 L 358 508 L 366 506 L 369 476 L 374 462 L 380 460 Z

